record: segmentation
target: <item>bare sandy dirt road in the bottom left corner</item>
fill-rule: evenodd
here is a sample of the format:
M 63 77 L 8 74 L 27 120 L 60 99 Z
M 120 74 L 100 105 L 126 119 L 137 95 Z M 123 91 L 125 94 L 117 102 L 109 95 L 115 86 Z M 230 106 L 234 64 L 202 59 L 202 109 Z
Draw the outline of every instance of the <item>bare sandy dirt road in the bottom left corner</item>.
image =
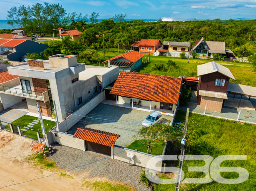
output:
M 33 153 L 31 148 L 36 143 L 37 142 L 28 138 L 6 131 L 0 131 L 0 188 L 54 173 L 46 169 L 41 169 L 26 161 L 26 156 Z M 52 175 L 27 183 L 6 187 L 1 189 L 1 191 L 89 190 L 85 187 L 81 187 L 85 174 L 68 174 L 72 175 L 74 179 L 60 175 Z

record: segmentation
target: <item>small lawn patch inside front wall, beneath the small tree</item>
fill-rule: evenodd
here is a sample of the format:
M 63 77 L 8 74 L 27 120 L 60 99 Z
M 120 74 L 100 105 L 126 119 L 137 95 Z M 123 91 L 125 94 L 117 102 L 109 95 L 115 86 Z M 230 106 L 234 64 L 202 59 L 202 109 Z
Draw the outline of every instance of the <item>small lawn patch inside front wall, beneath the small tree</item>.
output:
M 144 143 L 145 140 L 141 139 L 141 140 L 136 140 L 134 142 L 132 142 L 130 145 L 126 146 L 126 148 L 128 149 L 137 149 L 140 152 L 144 152 L 144 153 L 148 153 L 148 148 L 147 145 Z M 165 143 L 164 142 L 155 142 L 153 147 L 152 147 L 152 155 L 161 155 L 163 153 L 164 150 L 164 146 Z

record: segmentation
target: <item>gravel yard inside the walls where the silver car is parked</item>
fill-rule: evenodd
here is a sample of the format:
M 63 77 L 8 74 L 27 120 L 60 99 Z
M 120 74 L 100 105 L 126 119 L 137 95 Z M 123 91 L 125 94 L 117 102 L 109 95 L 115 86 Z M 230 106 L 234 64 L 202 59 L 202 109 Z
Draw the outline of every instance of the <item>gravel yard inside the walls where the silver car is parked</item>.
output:
M 127 146 L 134 142 L 133 136 L 138 134 L 141 122 L 150 114 L 150 112 L 112 106 L 108 104 L 99 104 L 94 108 L 87 118 L 83 118 L 69 129 L 70 134 L 74 134 L 79 127 L 88 127 L 119 134 L 116 145 Z M 164 115 L 164 118 L 172 120 L 172 116 Z

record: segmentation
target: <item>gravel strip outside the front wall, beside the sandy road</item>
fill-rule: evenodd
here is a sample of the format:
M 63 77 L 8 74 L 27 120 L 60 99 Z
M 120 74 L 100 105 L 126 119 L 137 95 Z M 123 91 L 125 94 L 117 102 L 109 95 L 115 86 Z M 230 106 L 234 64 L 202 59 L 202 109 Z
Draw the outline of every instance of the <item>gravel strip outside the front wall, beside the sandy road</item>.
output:
M 129 167 L 128 163 L 112 159 L 106 155 L 90 151 L 84 152 L 66 146 L 54 145 L 54 149 L 57 149 L 57 152 L 50 157 L 50 160 L 55 161 L 56 165 L 62 169 L 72 169 L 90 163 L 76 168 L 74 171 L 78 173 L 87 171 L 89 177 L 107 177 L 108 179 L 122 181 L 135 187 L 138 191 L 149 191 L 145 185 L 139 182 L 142 167 Z

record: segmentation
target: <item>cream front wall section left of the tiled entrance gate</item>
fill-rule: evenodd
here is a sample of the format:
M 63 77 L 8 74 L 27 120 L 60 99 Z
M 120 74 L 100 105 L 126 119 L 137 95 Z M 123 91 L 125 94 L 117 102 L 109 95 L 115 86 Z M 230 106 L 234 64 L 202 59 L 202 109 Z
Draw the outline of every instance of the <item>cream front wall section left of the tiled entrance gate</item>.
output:
M 56 136 L 55 136 L 56 134 Z M 50 131 L 46 136 L 46 144 L 50 145 L 58 142 L 60 145 L 86 151 L 85 142 L 82 139 L 74 138 L 73 135 L 65 134 L 58 131 Z

